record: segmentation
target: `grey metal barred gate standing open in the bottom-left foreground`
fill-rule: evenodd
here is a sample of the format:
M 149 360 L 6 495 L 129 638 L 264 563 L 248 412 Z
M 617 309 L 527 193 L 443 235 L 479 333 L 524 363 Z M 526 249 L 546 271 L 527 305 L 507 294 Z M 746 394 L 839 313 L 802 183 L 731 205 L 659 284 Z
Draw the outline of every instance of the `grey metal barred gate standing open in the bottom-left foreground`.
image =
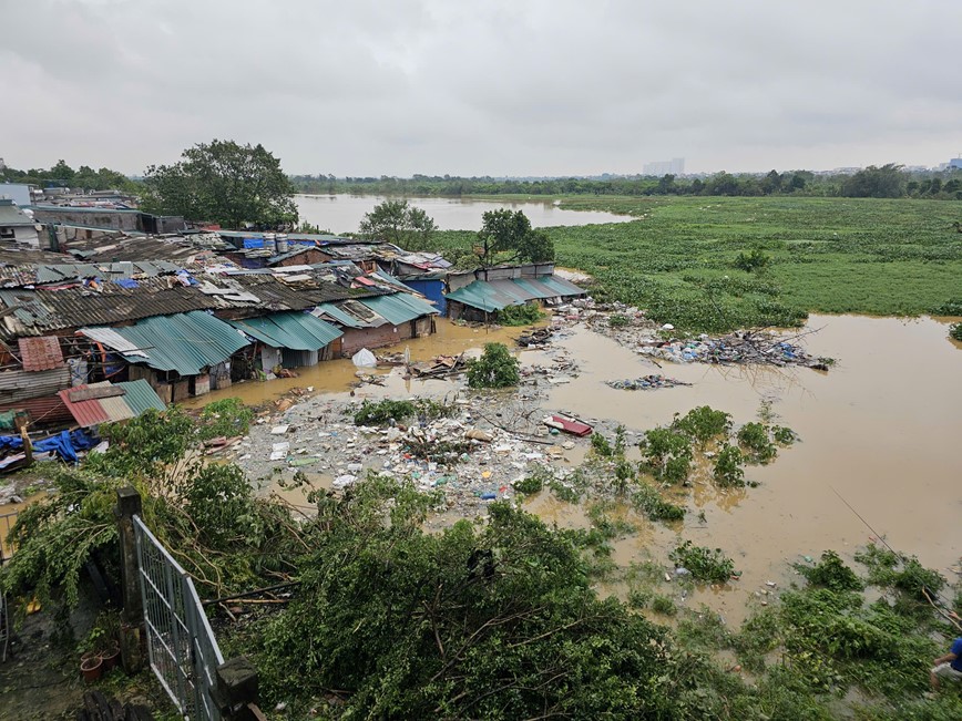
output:
M 133 517 L 151 668 L 184 718 L 221 721 L 212 699 L 224 662 L 194 581 Z

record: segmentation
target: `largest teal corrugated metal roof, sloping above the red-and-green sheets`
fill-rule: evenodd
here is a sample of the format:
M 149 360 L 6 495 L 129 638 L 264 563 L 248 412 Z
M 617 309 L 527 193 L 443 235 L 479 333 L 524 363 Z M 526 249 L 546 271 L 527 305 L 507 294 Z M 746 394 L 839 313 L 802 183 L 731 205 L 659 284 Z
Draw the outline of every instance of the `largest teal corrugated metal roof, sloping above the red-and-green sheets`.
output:
M 223 363 L 249 344 L 233 326 L 201 310 L 144 318 L 113 330 L 147 354 L 146 359 L 124 356 L 131 363 L 181 375 L 197 375 L 201 369 Z

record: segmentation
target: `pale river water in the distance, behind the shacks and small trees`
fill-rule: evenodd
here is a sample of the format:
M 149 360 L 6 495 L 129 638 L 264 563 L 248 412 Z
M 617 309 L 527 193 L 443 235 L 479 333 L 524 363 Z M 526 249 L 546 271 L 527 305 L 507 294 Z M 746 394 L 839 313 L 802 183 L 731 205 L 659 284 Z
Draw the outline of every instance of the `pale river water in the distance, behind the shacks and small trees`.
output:
M 357 233 L 358 224 L 365 214 L 387 198 L 377 195 L 296 195 L 294 199 L 301 223 L 310 223 L 331 233 Z M 564 210 L 552 200 L 515 203 L 437 197 L 417 197 L 409 200 L 432 217 L 441 230 L 478 230 L 481 227 L 481 215 L 498 208 L 523 210 L 535 228 L 626 223 L 633 219 L 631 216 L 598 210 Z

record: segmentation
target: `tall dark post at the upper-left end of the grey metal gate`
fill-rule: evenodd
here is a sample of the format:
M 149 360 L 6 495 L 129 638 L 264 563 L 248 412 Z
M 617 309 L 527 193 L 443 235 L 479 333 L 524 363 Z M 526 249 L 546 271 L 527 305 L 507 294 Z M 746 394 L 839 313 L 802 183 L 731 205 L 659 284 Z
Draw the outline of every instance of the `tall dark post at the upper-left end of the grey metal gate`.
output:
M 137 563 L 137 542 L 134 535 L 134 516 L 143 509 L 141 494 L 136 488 L 117 488 L 117 504 L 114 516 L 117 522 L 121 557 L 121 661 L 124 671 L 136 673 L 143 665 L 141 652 L 141 629 L 144 624 L 144 602 L 141 595 L 140 565 Z

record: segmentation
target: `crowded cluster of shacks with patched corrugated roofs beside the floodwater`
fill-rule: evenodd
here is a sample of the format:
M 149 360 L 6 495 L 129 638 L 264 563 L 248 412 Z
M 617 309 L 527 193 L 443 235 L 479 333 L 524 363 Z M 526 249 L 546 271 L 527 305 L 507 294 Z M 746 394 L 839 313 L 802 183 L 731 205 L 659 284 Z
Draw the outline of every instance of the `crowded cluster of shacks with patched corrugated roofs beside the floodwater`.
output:
M 452 274 L 334 236 L 50 229 L 0 249 L 0 428 L 132 418 L 279 369 L 430 334 L 434 317 L 581 295 L 550 266 Z

